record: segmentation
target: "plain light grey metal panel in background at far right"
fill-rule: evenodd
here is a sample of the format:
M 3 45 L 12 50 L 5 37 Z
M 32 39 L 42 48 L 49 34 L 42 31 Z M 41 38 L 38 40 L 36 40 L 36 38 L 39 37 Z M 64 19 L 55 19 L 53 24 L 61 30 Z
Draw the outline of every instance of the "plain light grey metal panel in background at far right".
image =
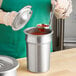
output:
M 76 42 L 76 0 L 72 0 L 72 6 L 73 11 L 70 17 L 65 20 L 64 42 L 68 44 L 70 44 L 70 42 L 75 44 Z

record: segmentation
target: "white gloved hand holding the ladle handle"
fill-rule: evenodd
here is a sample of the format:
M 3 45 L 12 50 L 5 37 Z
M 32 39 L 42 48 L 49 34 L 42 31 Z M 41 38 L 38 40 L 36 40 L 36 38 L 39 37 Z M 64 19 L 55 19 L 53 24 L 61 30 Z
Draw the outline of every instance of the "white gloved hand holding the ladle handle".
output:
M 72 12 L 71 0 L 51 0 L 51 3 L 55 6 L 54 13 L 57 19 L 65 19 L 70 16 Z

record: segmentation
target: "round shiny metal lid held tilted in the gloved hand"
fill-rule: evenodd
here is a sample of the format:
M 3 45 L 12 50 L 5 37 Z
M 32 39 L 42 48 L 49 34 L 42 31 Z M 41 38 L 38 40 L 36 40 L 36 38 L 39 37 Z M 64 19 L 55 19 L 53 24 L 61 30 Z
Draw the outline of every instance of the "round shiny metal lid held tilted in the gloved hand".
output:
M 31 6 L 26 6 L 22 8 L 18 12 L 17 16 L 15 17 L 12 23 L 12 29 L 16 31 L 23 28 L 31 18 L 31 15 L 32 15 Z

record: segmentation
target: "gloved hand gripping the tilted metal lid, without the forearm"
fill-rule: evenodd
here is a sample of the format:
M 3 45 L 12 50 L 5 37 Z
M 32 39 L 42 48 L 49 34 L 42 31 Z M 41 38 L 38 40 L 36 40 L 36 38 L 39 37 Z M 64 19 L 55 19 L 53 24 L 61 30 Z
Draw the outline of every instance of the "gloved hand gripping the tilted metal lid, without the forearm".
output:
M 15 12 L 15 11 L 6 13 L 3 17 L 3 23 L 6 26 L 8 26 L 8 25 L 12 26 L 12 22 L 13 22 L 14 18 L 16 17 L 16 15 L 17 15 L 17 12 Z

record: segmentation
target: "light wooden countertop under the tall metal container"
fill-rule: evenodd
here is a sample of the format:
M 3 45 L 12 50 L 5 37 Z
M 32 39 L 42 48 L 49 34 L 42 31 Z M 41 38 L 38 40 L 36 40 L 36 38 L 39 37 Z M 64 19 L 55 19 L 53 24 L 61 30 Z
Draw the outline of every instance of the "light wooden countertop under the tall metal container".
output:
M 18 59 L 17 76 L 76 76 L 76 48 L 53 52 L 50 59 L 50 70 L 46 73 L 31 73 L 27 71 L 26 58 Z

